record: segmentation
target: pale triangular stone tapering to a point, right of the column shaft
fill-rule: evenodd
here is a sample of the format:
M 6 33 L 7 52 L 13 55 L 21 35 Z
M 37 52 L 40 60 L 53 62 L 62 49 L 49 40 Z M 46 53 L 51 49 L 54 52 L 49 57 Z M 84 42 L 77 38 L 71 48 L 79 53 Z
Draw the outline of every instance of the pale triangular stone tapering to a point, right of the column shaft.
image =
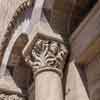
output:
M 66 100 L 89 100 L 87 91 L 84 87 L 80 74 L 74 61 L 68 64 L 68 74 L 66 74 Z

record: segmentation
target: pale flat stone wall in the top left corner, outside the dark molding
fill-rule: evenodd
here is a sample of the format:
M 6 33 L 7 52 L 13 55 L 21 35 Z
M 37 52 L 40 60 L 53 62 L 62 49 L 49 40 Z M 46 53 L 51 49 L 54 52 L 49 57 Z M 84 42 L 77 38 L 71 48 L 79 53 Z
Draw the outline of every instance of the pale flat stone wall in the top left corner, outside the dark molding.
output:
M 25 0 L 0 0 L 0 15 L 2 15 L 0 16 L 0 47 L 8 23 L 14 15 L 17 7 L 24 1 Z

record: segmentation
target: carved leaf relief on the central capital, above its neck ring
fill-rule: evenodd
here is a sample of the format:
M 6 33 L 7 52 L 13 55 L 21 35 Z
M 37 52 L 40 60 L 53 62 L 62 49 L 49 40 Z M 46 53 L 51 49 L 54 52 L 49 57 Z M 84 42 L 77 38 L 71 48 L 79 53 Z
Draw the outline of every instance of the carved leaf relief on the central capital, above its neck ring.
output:
M 34 71 L 45 66 L 63 69 L 66 56 L 67 49 L 62 43 L 39 38 L 33 45 L 28 63 Z

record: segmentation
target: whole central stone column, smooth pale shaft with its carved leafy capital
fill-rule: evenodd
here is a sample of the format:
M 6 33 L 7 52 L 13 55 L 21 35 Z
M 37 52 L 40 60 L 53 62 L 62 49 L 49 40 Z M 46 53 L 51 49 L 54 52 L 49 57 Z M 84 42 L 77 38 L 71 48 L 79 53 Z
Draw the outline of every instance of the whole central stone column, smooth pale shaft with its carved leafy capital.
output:
M 25 61 L 33 70 L 35 100 L 63 100 L 63 68 L 68 51 L 62 41 L 40 35 L 27 46 Z

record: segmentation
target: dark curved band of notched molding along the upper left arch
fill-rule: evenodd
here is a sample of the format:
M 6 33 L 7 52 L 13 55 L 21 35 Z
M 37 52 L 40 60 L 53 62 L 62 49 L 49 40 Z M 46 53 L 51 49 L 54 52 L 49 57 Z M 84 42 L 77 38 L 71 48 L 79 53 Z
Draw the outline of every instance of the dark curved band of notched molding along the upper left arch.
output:
M 4 52 L 8 46 L 9 41 L 11 40 L 15 30 L 22 23 L 19 19 L 22 18 L 25 14 L 25 11 L 28 8 L 32 8 L 34 5 L 34 0 L 26 0 L 24 1 L 15 11 L 11 21 L 9 22 L 6 33 L 4 35 L 4 39 L 2 41 L 2 47 L 0 48 L 0 60 L 2 61 Z M 0 61 L 0 63 L 1 63 Z

